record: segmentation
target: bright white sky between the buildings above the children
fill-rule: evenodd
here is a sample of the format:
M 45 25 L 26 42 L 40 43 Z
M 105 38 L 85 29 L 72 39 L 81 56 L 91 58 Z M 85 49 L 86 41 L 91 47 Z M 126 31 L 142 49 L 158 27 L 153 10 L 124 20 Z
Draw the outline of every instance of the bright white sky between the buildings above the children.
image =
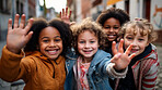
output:
M 39 0 L 40 5 L 44 4 L 44 0 Z M 56 12 L 60 12 L 66 9 L 67 0 L 46 0 L 46 8 L 54 8 Z

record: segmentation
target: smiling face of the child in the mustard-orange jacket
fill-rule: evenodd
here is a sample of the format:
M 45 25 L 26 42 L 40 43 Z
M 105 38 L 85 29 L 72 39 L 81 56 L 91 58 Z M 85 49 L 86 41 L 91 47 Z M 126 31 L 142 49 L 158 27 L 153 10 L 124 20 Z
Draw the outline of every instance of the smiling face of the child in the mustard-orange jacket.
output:
M 39 34 L 39 50 L 40 52 L 55 60 L 62 52 L 62 40 L 60 38 L 59 31 L 54 27 L 46 27 Z

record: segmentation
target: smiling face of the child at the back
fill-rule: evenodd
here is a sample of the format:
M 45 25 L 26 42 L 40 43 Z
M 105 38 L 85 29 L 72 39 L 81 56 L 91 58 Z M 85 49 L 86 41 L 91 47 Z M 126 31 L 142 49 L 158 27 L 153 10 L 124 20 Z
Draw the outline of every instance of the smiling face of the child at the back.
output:
M 117 33 L 120 29 L 120 23 L 118 20 L 111 17 L 104 23 L 104 30 L 106 31 L 108 41 L 114 41 L 117 38 Z

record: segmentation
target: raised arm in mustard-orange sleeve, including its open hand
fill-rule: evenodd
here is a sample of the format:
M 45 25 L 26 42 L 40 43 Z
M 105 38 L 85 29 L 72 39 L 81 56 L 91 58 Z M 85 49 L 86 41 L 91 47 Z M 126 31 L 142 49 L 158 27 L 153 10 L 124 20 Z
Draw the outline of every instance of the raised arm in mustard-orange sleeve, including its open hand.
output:
M 22 15 L 22 21 L 19 25 L 19 14 L 15 15 L 15 21 L 12 29 L 12 20 L 9 20 L 7 46 L 2 50 L 0 60 L 0 78 L 7 81 L 14 81 L 18 78 L 20 70 L 20 62 L 23 57 L 21 49 L 32 37 L 33 33 L 27 33 L 32 26 L 33 20 L 30 20 L 27 26 L 25 24 L 25 15 Z M 18 54 L 21 53 L 21 54 Z

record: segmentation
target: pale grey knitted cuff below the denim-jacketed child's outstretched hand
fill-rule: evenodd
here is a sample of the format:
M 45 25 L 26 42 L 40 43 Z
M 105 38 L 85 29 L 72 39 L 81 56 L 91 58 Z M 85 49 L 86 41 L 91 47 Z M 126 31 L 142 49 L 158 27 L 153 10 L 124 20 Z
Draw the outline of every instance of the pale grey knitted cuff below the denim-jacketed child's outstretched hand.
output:
M 124 69 L 123 72 L 118 73 L 118 72 L 115 70 L 114 65 L 115 65 L 114 63 L 108 63 L 107 66 L 106 66 L 106 72 L 109 75 L 109 77 L 125 78 L 127 70 L 128 70 L 128 67 L 126 69 Z

